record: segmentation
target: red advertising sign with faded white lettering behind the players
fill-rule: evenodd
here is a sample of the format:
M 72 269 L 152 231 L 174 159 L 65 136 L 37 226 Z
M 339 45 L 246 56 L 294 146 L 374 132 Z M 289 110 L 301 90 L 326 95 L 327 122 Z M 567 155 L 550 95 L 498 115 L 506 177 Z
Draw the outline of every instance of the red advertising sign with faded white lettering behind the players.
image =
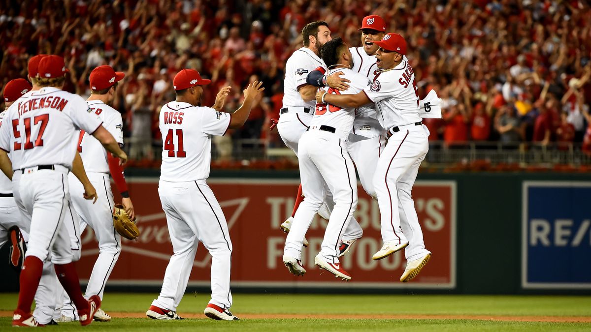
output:
M 173 253 L 160 198 L 157 178 L 129 181 L 129 192 L 139 215 L 139 241 L 123 239 L 119 261 L 109 284 L 160 285 Z M 456 185 L 454 181 L 417 181 L 413 198 L 423 228 L 425 245 L 433 257 L 413 281 L 403 284 L 400 276 L 406 261 L 398 252 L 381 261 L 371 256 L 381 248 L 378 202 L 359 185 L 355 218 L 363 237 L 340 258 L 352 275 L 349 282 L 334 278 L 314 266 L 320 250 L 326 220 L 315 217 L 306 234 L 310 242 L 302 261 L 307 274 L 297 278 L 282 262 L 285 234 L 279 226 L 293 209 L 297 180 L 210 179 L 207 181 L 222 206 L 233 244 L 232 285 L 264 287 L 346 287 L 346 288 L 454 288 Z M 117 198 L 116 198 L 117 200 Z M 82 235 L 82 259 L 77 263 L 80 277 L 87 279 L 98 255 L 92 230 Z M 190 285 L 209 285 L 211 256 L 200 246 L 193 263 Z

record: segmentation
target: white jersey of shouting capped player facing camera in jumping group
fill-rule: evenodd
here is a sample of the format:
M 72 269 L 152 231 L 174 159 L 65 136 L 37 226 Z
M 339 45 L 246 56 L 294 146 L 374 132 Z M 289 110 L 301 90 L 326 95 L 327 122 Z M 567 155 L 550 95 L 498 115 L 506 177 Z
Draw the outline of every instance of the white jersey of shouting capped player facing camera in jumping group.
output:
M 349 51 L 353 55 L 353 68 L 351 70 L 363 74 L 373 81 L 376 74 L 378 74 L 375 55 L 370 56 L 363 50 L 363 47 L 349 47 Z M 384 132 L 384 128 L 379 124 L 375 105 L 366 105 L 355 110 L 355 121 L 353 121 L 353 130 L 351 132 L 369 138 L 379 136 Z

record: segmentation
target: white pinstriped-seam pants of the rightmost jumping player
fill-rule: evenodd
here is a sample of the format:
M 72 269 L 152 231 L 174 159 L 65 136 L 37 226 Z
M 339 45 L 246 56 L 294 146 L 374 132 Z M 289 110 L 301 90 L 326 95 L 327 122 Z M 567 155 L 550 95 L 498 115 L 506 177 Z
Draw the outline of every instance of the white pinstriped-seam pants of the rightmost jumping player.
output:
M 428 134 L 423 127 L 401 126 L 401 130 L 388 139 L 374 176 L 382 239 L 411 243 L 412 246 L 404 250 L 407 261 L 428 253 L 411 195 L 418 167 L 428 151 Z

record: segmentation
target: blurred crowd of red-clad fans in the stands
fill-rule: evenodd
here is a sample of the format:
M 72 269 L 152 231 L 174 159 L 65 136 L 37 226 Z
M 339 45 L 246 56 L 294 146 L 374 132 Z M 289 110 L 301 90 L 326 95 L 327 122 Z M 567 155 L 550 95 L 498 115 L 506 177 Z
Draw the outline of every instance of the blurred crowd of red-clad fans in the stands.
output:
M 66 90 L 89 95 L 100 64 L 125 71 L 115 108 L 124 115 L 131 158 L 154 158 L 158 111 L 174 99 L 183 68 L 213 83 L 202 104 L 232 86 L 262 80 L 265 93 L 244 128 L 217 141 L 267 139 L 280 147 L 278 118 L 285 61 L 300 48 L 301 28 L 322 19 L 333 37 L 361 45 L 361 19 L 378 14 L 409 43 L 421 97 L 444 100 L 441 120 L 425 121 L 431 140 L 583 142 L 591 149 L 591 9 L 585 1 L 439 0 L 0 0 L 0 84 L 27 76 L 35 54 L 60 54 Z

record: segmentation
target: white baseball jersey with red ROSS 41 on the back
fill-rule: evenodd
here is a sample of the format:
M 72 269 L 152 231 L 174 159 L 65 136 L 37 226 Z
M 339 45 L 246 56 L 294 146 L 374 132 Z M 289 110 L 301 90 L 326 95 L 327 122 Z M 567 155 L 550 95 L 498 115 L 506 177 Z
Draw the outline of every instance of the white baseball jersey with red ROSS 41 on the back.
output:
M 170 102 L 160 110 L 162 168 L 160 179 L 169 182 L 209 177 L 212 135 L 223 136 L 232 116 L 209 107 Z

